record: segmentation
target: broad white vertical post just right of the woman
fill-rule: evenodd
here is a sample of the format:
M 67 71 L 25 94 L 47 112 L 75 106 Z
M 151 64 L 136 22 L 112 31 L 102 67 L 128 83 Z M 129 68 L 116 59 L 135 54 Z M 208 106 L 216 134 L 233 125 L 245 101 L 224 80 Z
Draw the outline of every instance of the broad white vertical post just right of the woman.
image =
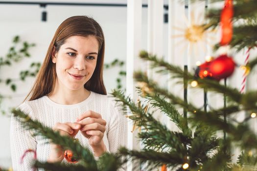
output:
M 127 2 L 127 59 L 126 59 L 126 94 L 136 101 L 136 84 L 133 79 L 133 72 L 139 68 L 139 52 L 141 50 L 141 0 L 128 0 Z M 128 122 L 128 149 L 139 150 L 139 141 L 136 138 L 138 131 L 133 133 L 133 122 Z M 136 167 L 136 168 L 135 168 Z M 128 161 L 127 171 L 139 171 L 136 163 Z

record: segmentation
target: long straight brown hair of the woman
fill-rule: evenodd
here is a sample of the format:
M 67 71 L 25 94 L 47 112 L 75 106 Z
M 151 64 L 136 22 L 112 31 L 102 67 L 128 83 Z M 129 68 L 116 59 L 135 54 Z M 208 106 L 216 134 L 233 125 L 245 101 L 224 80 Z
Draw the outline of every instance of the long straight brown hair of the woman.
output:
M 52 63 L 51 54 L 55 50 L 58 52 L 61 45 L 70 36 L 94 36 L 99 43 L 96 67 L 90 80 L 84 87 L 90 91 L 107 94 L 103 83 L 103 60 L 104 60 L 104 35 L 101 26 L 92 18 L 87 16 L 73 16 L 61 23 L 57 28 L 54 37 L 48 47 L 46 58 L 37 74 L 36 81 L 26 96 L 26 99 L 35 100 L 53 92 L 56 82 L 55 64 Z M 24 100 L 24 101 L 25 101 Z

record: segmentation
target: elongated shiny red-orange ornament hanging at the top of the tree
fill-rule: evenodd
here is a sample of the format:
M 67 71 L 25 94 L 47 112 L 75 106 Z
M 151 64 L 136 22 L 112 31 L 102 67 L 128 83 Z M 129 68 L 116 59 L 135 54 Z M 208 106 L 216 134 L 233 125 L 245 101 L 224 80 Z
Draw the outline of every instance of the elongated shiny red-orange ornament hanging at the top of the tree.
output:
M 231 42 L 233 36 L 232 18 L 234 15 L 233 0 L 225 0 L 224 8 L 220 15 L 221 40 L 220 45 L 227 45 Z

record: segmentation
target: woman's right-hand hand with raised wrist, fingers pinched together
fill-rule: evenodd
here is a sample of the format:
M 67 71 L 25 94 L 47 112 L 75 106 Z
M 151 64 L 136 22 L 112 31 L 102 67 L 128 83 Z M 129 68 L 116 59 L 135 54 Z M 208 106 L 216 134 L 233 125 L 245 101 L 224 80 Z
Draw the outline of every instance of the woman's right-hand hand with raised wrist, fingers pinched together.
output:
M 103 143 L 106 121 L 99 113 L 89 110 L 78 117 L 77 123 L 81 125 L 82 135 L 88 138 L 94 156 L 101 156 L 106 151 Z

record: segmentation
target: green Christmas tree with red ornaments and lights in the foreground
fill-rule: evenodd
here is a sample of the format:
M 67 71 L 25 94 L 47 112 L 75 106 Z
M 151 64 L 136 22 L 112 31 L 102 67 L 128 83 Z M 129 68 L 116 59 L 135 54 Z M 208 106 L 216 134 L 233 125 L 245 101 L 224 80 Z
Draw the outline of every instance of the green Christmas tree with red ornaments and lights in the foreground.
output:
M 223 0 L 215 0 L 223 1 Z M 252 49 L 257 45 L 257 3 L 256 0 L 224 0 L 222 9 L 213 9 L 208 13 L 210 22 L 202 25 L 203 31 L 221 27 L 221 40 L 216 45 L 230 46 L 237 51 L 243 48 Z M 240 25 L 234 22 L 243 20 Z M 146 170 L 162 166 L 162 170 L 172 171 L 254 171 L 257 170 L 257 135 L 249 126 L 249 119 L 256 117 L 257 91 L 241 93 L 241 90 L 226 85 L 226 79 L 234 72 L 235 63 L 227 54 L 200 64 L 194 73 L 187 68 L 168 64 L 146 51 L 141 51 L 140 58 L 150 61 L 153 68 L 160 73 L 172 74 L 172 78 L 180 79 L 185 92 L 187 85 L 201 88 L 205 94 L 210 91 L 224 97 L 224 106 L 207 109 L 195 107 L 187 102 L 187 98 L 172 94 L 161 87 L 143 72 L 136 71 L 134 78 L 139 82 L 137 103 L 124 95 L 120 90 L 114 90 L 113 96 L 127 117 L 133 120 L 134 126 L 140 128 L 139 138 L 143 144 L 141 151 L 122 148 L 117 154 L 105 153 L 95 161 L 89 150 L 69 137 L 62 137 L 58 132 L 44 127 L 41 123 L 31 120 L 19 110 L 13 110 L 15 116 L 25 128 L 35 130 L 35 134 L 43 135 L 55 144 L 73 151 L 79 158 L 76 165 L 64 163 L 35 162 L 35 167 L 47 170 L 76 170 L 76 171 L 116 171 L 126 162 L 121 156 L 146 164 Z M 257 64 L 257 58 L 247 62 L 243 68 L 245 76 Z M 223 84 L 225 83 L 225 84 Z M 184 108 L 179 113 L 177 107 Z M 233 118 L 239 111 L 245 111 L 247 117 L 241 122 Z M 154 117 L 155 112 L 166 115 L 178 131 L 169 130 Z M 25 124 L 26 123 L 26 124 Z M 218 136 L 217 132 L 223 132 Z M 236 144 L 236 145 L 235 145 Z M 240 148 L 237 162 L 232 162 L 232 147 Z

